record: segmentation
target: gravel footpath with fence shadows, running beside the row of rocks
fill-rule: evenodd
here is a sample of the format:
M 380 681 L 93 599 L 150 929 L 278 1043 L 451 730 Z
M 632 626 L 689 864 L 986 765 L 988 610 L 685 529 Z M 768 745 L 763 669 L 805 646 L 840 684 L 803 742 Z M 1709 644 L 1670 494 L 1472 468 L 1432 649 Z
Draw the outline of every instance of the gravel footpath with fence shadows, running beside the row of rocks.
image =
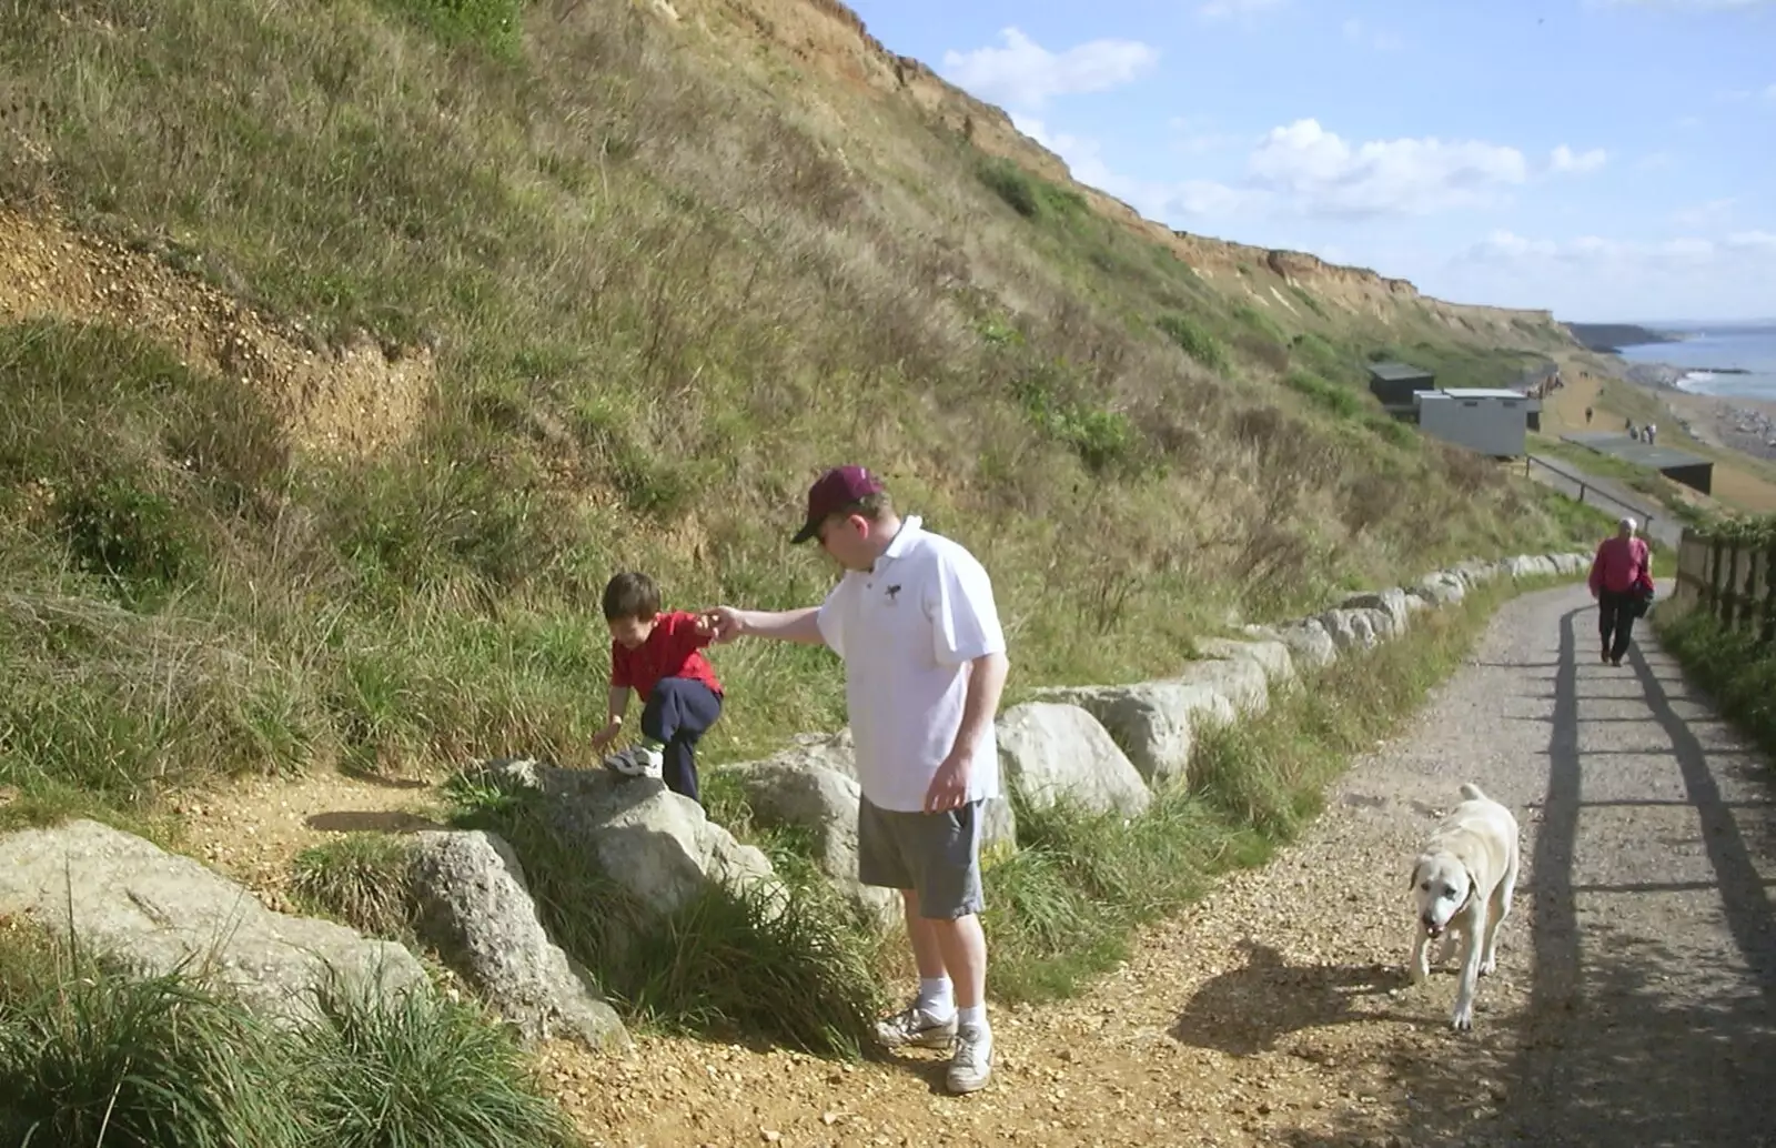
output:
M 1508 606 L 1304 842 L 1087 999 L 1000 1013 L 987 1093 L 677 1041 L 609 1091 L 558 1059 L 563 1093 L 604 1144 L 1776 1143 L 1769 764 L 1650 638 L 1620 670 L 1593 640 L 1582 590 Z M 1414 990 L 1403 958 L 1408 858 L 1463 780 L 1517 810 L 1526 865 L 1458 1036 L 1453 972 Z

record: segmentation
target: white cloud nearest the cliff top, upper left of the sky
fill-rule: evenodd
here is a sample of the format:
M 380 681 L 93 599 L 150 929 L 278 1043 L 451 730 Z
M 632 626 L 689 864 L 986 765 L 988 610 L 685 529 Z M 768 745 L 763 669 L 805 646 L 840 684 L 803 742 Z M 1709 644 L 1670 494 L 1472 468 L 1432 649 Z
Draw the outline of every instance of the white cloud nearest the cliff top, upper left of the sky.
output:
M 1158 48 L 1133 39 L 1094 39 L 1057 53 L 1018 28 L 1000 36 L 1003 48 L 945 52 L 943 71 L 975 96 L 1016 108 L 1035 110 L 1050 96 L 1121 87 L 1160 59 Z

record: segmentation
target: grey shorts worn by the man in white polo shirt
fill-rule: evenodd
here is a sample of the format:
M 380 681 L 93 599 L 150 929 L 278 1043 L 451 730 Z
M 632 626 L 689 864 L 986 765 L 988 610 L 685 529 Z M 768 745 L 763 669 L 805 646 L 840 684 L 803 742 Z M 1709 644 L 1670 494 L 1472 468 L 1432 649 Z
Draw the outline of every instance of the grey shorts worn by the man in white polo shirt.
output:
M 918 890 L 918 915 L 955 921 L 984 908 L 980 801 L 941 814 L 858 805 L 858 880 Z

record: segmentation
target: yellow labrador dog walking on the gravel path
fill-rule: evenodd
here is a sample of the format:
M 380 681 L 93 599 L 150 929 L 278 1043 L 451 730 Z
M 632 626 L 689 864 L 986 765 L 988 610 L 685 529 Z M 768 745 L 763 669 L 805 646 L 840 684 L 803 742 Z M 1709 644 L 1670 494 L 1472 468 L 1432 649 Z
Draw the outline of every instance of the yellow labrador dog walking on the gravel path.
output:
M 1460 1031 L 1474 1027 L 1474 985 L 1497 965 L 1499 926 L 1511 912 L 1517 885 L 1517 817 L 1479 785 L 1462 785 L 1463 801 L 1449 810 L 1412 865 L 1417 899 L 1417 937 L 1412 944 L 1412 983 L 1430 976 L 1430 944 L 1460 933 L 1462 981 L 1455 1013 Z M 1446 949 L 1447 953 L 1447 949 Z

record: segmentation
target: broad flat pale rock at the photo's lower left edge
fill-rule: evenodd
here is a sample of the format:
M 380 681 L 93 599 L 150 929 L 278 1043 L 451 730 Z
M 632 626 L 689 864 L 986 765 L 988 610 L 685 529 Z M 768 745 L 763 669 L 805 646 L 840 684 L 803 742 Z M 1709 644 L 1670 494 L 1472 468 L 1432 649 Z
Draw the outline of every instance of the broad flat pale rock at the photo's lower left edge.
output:
M 147 974 L 179 967 L 274 1020 L 314 1016 L 316 990 L 430 992 L 414 954 L 314 917 L 274 913 L 199 862 L 96 821 L 0 837 L 0 917 L 28 917 Z

